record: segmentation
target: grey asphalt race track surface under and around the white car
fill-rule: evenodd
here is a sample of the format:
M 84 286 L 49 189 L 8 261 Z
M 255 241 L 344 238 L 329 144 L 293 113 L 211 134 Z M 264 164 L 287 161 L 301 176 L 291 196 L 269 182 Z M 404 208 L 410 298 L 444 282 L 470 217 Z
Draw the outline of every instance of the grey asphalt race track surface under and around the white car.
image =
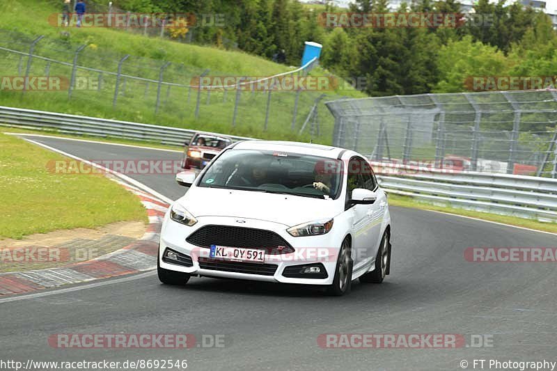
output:
M 178 152 L 34 137 L 84 159 L 180 159 Z M 164 196 L 173 175 L 141 175 Z M 471 246 L 556 246 L 557 236 L 459 216 L 392 207 L 393 265 L 382 285 L 354 282 L 346 297 L 306 287 L 155 274 L 81 285 L 47 296 L 0 299 L 0 353 L 26 361 L 187 359 L 191 370 L 462 370 L 462 360 L 557 361 L 557 270 L 551 262 L 467 262 Z M 108 284 L 106 284 L 108 283 Z M 65 286 L 63 288 L 67 288 Z M 59 289 L 58 289 L 59 290 Z M 226 346 L 55 349 L 56 333 L 221 334 Z M 322 333 L 451 333 L 492 347 L 322 349 Z M 487 367 L 487 365 L 486 365 Z M 478 369 L 478 367 L 476 367 Z M 486 369 L 486 368 L 484 368 Z

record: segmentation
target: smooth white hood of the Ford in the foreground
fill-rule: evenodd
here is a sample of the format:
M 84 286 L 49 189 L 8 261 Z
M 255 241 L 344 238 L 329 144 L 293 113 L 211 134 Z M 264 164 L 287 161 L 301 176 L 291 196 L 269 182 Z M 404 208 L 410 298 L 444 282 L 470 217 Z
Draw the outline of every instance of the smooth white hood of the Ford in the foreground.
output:
M 177 202 L 196 217 L 233 216 L 289 227 L 338 214 L 335 200 L 235 189 L 191 187 Z

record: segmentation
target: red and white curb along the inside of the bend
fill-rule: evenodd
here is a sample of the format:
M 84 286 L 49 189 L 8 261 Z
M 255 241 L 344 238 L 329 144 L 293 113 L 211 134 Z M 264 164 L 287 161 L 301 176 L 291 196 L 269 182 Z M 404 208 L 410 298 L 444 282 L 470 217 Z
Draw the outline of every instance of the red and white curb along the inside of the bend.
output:
M 166 200 L 149 194 L 118 177 L 107 175 L 141 199 L 146 207 L 149 223 L 141 239 L 99 258 L 52 269 L 0 274 L 0 296 L 22 294 L 69 283 L 81 283 L 100 278 L 123 276 L 157 267 L 157 253 L 162 219 L 169 205 Z

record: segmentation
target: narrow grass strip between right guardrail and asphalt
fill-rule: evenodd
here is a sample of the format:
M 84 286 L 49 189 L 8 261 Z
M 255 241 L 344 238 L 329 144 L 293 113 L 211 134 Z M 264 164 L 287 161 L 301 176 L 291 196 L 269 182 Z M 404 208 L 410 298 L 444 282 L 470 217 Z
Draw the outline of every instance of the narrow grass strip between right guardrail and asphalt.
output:
M 417 198 L 409 196 L 400 196 L 396 194 L 389 194 L 389 205 L 400 207 L 411 207 L 414 209 L 433 210 L 438 212 L 447 212 L 449 214 L 457 214 L 463 216 L 470 216 L 472 218 L 484 219 L 487 221 L 495 221 L 497 223 L 510 224 L 511 226 L 519 226 L 524 228 L 531 228 L 535 230 L 543 230 L 545 232 L 557 233 L 557 223 L 542 223 L 533 219 L 517 218 L 516 216 L 506 216 L 499 214 L 491 214 L 487 212 L 476 212 L 473 210 L 457 209 L 455 207 L 445 207 L 433 205 Z

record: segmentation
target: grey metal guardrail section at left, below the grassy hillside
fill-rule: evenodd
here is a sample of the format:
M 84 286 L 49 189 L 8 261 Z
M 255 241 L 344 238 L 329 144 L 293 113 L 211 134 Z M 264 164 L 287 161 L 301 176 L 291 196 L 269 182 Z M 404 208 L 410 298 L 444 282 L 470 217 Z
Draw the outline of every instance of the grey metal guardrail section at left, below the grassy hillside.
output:
M 34 111 L 6 106 L 0 106 L 0 125 L 23 129 L 51 130 L 63 134 L 149 141 L 169 145 L 183 145 L 196 132 L 199 132 L 199 130 L 180 129 L 178 127 L 131 123 L 129 121 L 109 120 L 107 118 L 75 116 L 65 113 Z M 233 141 L 253 139 L 244 136 L 228 135 L 228 137 L 233 139 Z

